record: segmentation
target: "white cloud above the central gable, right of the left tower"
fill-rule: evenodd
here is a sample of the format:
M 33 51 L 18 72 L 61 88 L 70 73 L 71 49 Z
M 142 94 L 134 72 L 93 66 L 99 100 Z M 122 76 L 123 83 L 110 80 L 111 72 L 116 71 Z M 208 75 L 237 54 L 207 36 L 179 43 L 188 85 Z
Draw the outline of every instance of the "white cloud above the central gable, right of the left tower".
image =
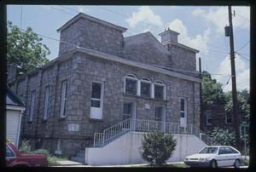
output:
M 133 12 L 131 17 L 125 20 L 129 26 L 135 27 L 140 22 L 147 22 L 154 26 L 162 26 L 163 22 L 159 15 L 154 12 L 148 6 L 142 6 L 137 12 Z

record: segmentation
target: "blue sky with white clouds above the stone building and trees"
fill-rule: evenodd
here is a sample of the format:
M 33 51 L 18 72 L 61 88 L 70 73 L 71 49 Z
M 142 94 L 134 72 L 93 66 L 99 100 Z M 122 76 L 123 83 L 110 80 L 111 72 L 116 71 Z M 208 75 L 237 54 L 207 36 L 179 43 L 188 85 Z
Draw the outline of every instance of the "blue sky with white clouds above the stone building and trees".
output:
M 232 9 L 235 10 L 233 26 L 235 51 L 238 53 L 237 89 L 249 89 L 250 8 Z M 34 32 L 59 39 L 56 30 L 79 12 L 124 26 L 128 29 L 124 37 L 149 31 L 160 40 L 158 34 L 170 27 L 180 33 L 179 43 L 200 50 L 197 57 L 201 57 L 202 69 L 223 83 L 224 91 L 231 90 L 230 42 L 229 37 L 224 36 L 224 26 L 228 26 L 228 7 L 9 5 L 7 20 L 22 29 L 30 26 Z M 44 43 L 51 51 L 49 60 L 53 60 L 58 56 L 59 42 L 47 37 L 43 37 Z

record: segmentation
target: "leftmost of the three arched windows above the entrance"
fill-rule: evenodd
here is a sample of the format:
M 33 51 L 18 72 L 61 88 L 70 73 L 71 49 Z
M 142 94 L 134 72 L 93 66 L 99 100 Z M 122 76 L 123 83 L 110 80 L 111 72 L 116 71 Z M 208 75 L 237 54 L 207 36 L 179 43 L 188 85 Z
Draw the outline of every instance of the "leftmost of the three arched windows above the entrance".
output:
M 139 95 L 138 94 L 138 79 L 134 74 L 128 74 L 125 76 L 125 94 L 128 95 Z

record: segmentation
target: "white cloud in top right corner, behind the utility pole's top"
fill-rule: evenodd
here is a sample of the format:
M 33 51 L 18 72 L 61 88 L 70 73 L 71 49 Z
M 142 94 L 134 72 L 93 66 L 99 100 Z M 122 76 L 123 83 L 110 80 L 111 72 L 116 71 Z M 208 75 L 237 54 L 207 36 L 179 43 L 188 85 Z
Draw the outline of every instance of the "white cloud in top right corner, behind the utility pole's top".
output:
M 248 7 L 232 7 L 236 16 L 233 17 L 234 28 L 249 29 L 250 9 Z M 224 33 L 224 26 L 229 25 L 228 7 L 211 8 L 209 11 L 205 9 L 195 9 L 192 11 L 195 16 L 200 16 L 212 23 L 216 27 L 216 32 Z

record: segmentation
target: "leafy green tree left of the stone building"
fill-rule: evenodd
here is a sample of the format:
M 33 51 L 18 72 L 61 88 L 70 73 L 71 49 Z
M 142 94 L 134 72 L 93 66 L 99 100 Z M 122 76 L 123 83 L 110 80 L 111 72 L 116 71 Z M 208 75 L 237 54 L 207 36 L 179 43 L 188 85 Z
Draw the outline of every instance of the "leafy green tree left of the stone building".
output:
M 13 26 L 12 22 L 8 21 L 7 64 L 18 66 L 18 74 L 44 65 L 49 61 L 46 55 L 49 55 L 50 51 L 42 40 L 42 37 L 32 32 L 31 27 L 21 32 L 18 26 Z

